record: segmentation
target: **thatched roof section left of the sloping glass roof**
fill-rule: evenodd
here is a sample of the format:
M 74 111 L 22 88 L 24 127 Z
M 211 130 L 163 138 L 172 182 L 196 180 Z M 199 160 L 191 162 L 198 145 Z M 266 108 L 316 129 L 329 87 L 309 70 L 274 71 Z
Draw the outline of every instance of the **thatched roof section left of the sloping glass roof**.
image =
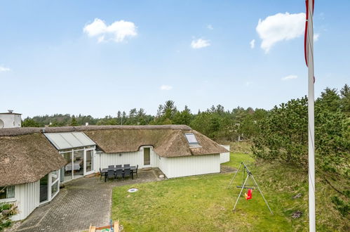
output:
M 38 181 L 65 164 L 43 134 L 0 136 L 0 186 Z

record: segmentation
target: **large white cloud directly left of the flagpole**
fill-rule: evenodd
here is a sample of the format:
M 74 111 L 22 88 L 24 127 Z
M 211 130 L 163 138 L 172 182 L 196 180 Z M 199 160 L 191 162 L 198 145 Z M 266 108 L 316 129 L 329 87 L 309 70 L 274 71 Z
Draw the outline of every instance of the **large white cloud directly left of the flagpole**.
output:
M 261 48 L 266 53 L 278 41 L 295 39 L 304 34 L 305 13 L 276 13 L 257 23 L 257 34 L 262 39 Z

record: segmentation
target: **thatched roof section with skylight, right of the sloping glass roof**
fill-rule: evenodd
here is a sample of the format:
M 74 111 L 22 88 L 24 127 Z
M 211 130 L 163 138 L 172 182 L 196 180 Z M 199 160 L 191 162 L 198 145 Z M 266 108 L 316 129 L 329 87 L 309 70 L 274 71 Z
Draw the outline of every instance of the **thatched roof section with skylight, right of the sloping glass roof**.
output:
M 105 153 L 133 152 L 145 145 L 152 145 L 156 153 L 162 157 L 227 152 L 215 141 L 184 125 L 90 129 L 84 132 Z M 189 146 L 185 133 L 194 133 L 200 147 Z

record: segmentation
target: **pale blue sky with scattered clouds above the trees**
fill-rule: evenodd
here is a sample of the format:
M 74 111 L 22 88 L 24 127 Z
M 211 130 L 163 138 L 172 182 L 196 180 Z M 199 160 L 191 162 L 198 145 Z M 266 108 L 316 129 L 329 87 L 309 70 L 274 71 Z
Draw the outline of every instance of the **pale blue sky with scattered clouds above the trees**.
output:
M 307 94 L 304 5 L 0 1 L 0 111 L 154 114 L 166 100 L 193 112 L 217 104 L 272 108 Z M 350 84 L 349 8 L 349 1 L 316 0 L 316 96 Z

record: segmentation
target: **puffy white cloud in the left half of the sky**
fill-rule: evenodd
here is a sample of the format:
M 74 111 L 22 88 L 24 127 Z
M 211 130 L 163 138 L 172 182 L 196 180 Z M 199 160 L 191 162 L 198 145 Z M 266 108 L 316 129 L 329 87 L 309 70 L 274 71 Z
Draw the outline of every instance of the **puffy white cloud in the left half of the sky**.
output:
M 137 35 L 136 26 L 133 22 L 119 20 L 111 25 L 106 25 L 105 21 L 95 18 L 93 22 L 83 28 L 83 32 L 89 37 L 98 37 L 97 41 L 115 41 L 121 42 L 126 37 L 135 37 Z

